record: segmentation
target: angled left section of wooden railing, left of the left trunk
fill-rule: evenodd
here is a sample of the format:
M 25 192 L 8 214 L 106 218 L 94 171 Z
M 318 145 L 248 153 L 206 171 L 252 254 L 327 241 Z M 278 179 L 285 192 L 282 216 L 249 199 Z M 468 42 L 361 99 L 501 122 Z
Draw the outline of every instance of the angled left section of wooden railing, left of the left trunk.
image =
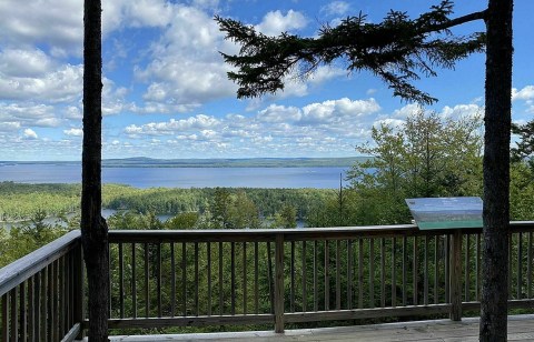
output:
M 83 321 L 80 232 L 0 269 L 2 341 L 73 341 Z

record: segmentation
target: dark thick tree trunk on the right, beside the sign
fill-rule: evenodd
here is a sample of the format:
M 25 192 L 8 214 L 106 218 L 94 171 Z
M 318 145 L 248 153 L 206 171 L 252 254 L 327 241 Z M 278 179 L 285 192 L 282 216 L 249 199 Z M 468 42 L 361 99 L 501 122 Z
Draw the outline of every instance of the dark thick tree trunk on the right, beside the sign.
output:
M 484 249 L 481 341 L 506 341 L 513 0 L 490 0 L 486 17 Z

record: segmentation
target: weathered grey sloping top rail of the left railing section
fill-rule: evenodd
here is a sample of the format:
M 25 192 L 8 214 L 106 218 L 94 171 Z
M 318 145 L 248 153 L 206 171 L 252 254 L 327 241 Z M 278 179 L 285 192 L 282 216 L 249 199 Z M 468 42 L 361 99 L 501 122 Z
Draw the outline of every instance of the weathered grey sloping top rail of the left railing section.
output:
M 8 293 L 33 274 L 43 270 L 55 260 L 79 245 L 80 237 L 81 233 L 79 230 L 68 232 L 37 251 L 0 269 L 0 295 Z

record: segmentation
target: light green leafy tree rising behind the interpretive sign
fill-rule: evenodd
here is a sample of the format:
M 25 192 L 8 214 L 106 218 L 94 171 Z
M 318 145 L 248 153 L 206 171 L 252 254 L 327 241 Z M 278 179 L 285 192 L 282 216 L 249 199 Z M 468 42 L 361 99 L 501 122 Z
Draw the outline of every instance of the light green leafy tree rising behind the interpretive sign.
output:
M 481 127 L 419 110 L 402 127 L 373 128 L 373 144 L 356 150 L 374 159 L 347 173 L 350 224 L 409 223 L 406 198 L 482 195 Z

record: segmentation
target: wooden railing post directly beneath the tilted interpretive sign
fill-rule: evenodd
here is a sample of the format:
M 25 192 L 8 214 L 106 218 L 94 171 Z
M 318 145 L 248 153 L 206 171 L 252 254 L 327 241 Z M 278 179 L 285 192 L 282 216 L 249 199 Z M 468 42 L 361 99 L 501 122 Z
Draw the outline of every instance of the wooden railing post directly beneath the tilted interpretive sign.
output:
M 451 313 L 453 321 L 462 321 L 462 231 L 455 230 L 451 252 Z

